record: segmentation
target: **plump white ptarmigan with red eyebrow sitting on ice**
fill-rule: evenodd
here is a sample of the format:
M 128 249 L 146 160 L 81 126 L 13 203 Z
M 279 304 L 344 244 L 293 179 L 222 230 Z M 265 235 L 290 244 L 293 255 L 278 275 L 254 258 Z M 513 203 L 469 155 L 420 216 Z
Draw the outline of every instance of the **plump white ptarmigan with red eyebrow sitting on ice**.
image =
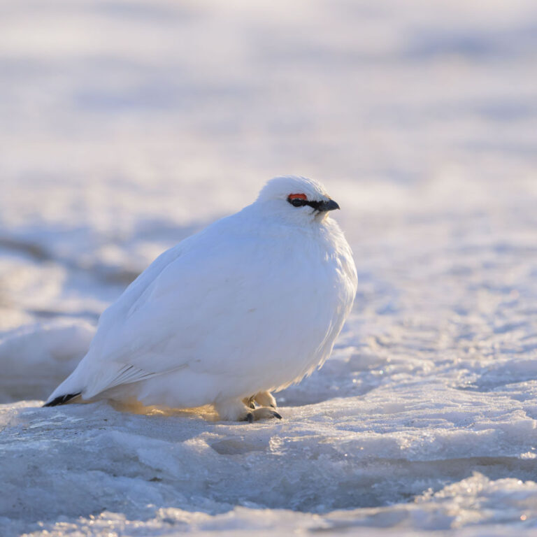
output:
M 268 181 L 127 287 L 45 406 L 99 396 L 280 417 L 270 392 L 322 366 L 355 298 L 352 252 L 328 217 L 338 208 L 313 180 Z

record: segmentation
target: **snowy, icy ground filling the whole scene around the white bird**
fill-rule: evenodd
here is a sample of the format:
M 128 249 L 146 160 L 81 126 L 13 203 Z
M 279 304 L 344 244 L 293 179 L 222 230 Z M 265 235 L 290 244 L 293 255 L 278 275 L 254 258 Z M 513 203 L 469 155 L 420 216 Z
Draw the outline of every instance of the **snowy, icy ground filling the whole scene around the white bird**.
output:
M 537 534 L 534 0 L 0 13 L 2 537 Z M 134 275 L 280 173 L 359 271 L 285 420 L 40 408 Z

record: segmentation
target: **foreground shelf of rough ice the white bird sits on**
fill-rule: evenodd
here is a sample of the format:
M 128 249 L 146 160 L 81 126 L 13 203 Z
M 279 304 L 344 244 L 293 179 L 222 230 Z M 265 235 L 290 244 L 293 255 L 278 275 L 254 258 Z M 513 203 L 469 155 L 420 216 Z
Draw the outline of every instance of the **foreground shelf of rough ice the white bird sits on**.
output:
M 203 410 L 4 406 L 4 534 L 304 525 L 398 535 L 535 524 L 534 420 L 506 399 L 491 413 L 482 394 L 453 394 L 450 405 L 445 396 L 331 399 L 283 407 L 285 422 L 256 427 L 213 422 Z

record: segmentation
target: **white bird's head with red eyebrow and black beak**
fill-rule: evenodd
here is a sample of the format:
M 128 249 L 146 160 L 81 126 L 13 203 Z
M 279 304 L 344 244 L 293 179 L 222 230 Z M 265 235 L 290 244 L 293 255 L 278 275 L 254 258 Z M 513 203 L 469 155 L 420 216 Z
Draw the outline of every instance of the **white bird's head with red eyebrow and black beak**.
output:
M 286 222 L 303 225 L 322 222 L 330 210 L 339 208 L 319 182 L 296 176 L 269 180 L 256 203 Z

